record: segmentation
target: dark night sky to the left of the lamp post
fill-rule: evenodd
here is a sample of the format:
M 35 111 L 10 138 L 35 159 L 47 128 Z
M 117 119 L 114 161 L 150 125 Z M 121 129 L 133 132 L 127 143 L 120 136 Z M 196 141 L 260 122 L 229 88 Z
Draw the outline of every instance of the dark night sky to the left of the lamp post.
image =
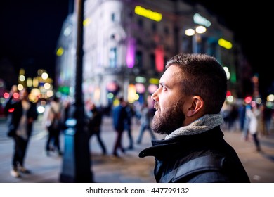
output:
M 26 68 L 26 75 L 37 75 L 37 68 L 54 75 L 56 44 L 68 4 L 68 0 L 2 1 L 0 58 L 8 57 L 16 68 Z

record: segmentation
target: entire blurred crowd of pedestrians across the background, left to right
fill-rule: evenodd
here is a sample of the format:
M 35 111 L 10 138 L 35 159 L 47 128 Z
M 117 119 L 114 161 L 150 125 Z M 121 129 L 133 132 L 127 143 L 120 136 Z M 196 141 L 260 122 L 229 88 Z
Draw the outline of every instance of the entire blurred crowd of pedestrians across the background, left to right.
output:
M 24 94 L 25 93 L 25 94 Z M 37 109 L 44 102 L 44 111 L 42 115 L 42 125 L 47 131 L 47 139 L 45 144 L 45 155 L 51 156 L 58 154 L 63 156 L 63 150 L 60 146 L 60 135 L 67 129 L 67 120 L 73 118 L 73 102 L 69 99 L 64 99 L 58 94 L 52 96 L 48 101 L 32 102 L 27 97 L 30 92 L 17 89 L 11 89 L 10 98 L 8 98 L 8 105 L 6 105 L 5 113 L 10 124 L 8 127 L 21 128 L 22 125 L 29 124 L 37 120 L 38 114 L 30 115 L 28 110 L 30 106 L 35 106 Z M 149 105 L 150 104 L 150 105 Z M 39 110 L 37 110 L 39 111 Z M 113 155 L 117 158 L 121 157 L 126 151 L 131 151 L 135 148 L 135 144 L 141 144 L 144 132 L 148 132 L 151 139 L 156 139 L 154 132 L 150 128 L 150 121 L 155 113 L 153 105 L 148 102 L 143 103 L 129 103 L 122 97 L 115 98 L 113 105 L 109 108 L 97 106 L 91 100 L 84 103 L 84 131 L 89 140 L 96 136 L 98 144 L 102 150 L 102 155 Z M 221 110 L 224 124 L 222 125 L 224 131 L 242 132 L 242 140 L 254 141 L 256 151 L 261 151 L 260 138 L 267 137 L 273 130 L 274 113 L 273 109 L 266 105 L 266 103 L 250 103 L 235 104 L 224 103 Z M 16 122 L 18 117 L 25 115 L 26 122 Z M 112 118 L 113 131 L 116 133 L 116 138 L 113 139 L 114 146 L 111 153 L 107 153 L 109 147 L 105 144 L 101 136 L 101 125 L 103 124 L 103 117 L 108 116 Z M 17 118 L 17 119 L 16 119 Z M 132 122 L 136 121 L 139 125 L 139 133 L 136 139 L 133 139 Z M 15 124 L 15 125 L 14 125 Z M 13 177 L 20 177 L 20 173 L 30 173 L 31 171 L 24 166 L 25 153 L 27 152 L 27 144 L 32 133 L 32 127 L 27 127 L 28 130 L 17 129 L 17 133 L 11 134 L 14 139 L 14 153 L 11 161 L 11 175 Z M 123 138 L 128 137 L 129 146 L 123 144 Z

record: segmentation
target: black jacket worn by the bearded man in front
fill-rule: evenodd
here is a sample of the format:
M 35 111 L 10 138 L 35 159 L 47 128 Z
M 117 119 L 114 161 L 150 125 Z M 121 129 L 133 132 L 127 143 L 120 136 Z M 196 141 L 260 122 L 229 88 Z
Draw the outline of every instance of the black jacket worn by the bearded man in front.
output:
M 250 182 L 220 127 L 194 135 L 152 140 L 139 157 L 155 157 L 156 182 Z

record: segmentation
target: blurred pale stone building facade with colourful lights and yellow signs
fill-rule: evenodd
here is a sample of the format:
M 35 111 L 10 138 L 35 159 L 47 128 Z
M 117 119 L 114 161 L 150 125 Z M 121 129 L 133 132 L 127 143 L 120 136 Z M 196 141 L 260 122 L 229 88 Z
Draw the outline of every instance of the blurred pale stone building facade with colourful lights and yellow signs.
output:
M 56 84 L 73 96 L 77 13 L 68 15 L 57 47 Z M 164 64 L 179 52 L 207 53 L 226 67 L 229 89 L 237 86 L 240 48 L 233 32 L 199 4 L 184 1 L 86 0 L 84 2 L 84 100 L 112 106 L 116 96 L 147 101 Z M 197 26 L 207 31 L 187 36 Z

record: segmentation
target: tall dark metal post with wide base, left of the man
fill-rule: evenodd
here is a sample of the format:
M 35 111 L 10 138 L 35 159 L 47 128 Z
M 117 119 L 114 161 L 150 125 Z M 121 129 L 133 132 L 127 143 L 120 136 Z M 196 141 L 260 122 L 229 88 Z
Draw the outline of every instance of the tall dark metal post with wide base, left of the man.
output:
M 83 18 L 84 0 L 77 1 L 77 51 L 75 73 L 75 103 L 70 109 L 72 118 L 66 122 L 63 167 L 60 182 L 93 182 L 89 136 L 84 132 L 83 82 Z

